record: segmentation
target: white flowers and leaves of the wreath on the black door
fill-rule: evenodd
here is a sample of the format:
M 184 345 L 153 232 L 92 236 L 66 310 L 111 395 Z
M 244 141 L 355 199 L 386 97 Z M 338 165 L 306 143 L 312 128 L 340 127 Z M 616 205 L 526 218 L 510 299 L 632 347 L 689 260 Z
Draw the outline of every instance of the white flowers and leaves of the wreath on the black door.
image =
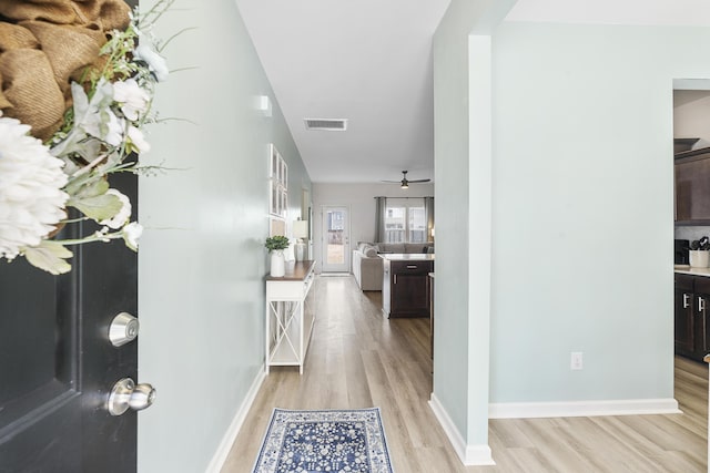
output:
M 131 223 L 131 202 L 109 188 L 109 177 L 140 171 L 130 155 L 151 147 L 142 126 L 155 121 L 150 114 L 155 82 L 165 81 L 170 71 L 149 31 L 173 1 L 156 0 L 145 22 L 136 9 L 125 30 L 112 31 L 99 52 L 105 68 L 71 83 L 72 113 L 48 146 L 30 135 L 30 126 L 3 119 L 0 111 L 0 259 L 23 256 L 59 275 L 71 269 L 70 245 L 123 239 L 138 250 L 143 227 Z M 77 218 L 67 219 L 69 207 Z M 64 233 L 67 239 L 53 238 L 58 226 L 84 219 L 100 229 L 84 235 L 77 227 Z

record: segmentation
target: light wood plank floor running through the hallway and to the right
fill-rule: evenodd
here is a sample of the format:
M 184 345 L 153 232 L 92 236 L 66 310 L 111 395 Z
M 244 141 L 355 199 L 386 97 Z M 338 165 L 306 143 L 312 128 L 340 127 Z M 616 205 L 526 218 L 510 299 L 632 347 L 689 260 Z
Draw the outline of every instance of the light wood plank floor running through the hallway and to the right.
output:
M 683 414 L 491 420 L 496 466 L 464 467 L 427 403 L 428 319 L 384 319 L 381 294 L 363 294 L 352 276 L 317 278 L 315 289 L 304 374 L 272 369 L 222 473 L 251 472 L 276 407 L 379 407 L 397 473 L 707 472 L 708 367 L 682 358 L 676 399 Z

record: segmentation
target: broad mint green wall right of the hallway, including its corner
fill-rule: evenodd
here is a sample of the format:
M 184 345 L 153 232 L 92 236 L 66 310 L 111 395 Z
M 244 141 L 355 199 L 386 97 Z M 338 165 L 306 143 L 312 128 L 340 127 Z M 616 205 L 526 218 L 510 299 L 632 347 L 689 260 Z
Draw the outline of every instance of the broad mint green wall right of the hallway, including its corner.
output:
M 496 27 L 505 3 L 454 0 L 434 45 L 434 394 L 468 446 L 488 395 L 673 397 L 672 79 L 710 78 L 707 29 Z

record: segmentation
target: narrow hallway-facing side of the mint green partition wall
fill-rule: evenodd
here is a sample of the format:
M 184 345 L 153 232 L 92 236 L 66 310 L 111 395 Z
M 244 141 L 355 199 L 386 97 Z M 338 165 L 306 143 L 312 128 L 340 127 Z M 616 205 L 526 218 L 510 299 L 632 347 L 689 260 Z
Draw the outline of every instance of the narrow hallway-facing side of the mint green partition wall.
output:
M 447 21 L 450 11 L 444 18 Z M 436 330 L 434 394 L 463 436 L 468 426 L 468 35 L 434 38 Z M 487 380 L 486 380 L 487 383 Z M 485 442 L 484 442 L 485 443 Z

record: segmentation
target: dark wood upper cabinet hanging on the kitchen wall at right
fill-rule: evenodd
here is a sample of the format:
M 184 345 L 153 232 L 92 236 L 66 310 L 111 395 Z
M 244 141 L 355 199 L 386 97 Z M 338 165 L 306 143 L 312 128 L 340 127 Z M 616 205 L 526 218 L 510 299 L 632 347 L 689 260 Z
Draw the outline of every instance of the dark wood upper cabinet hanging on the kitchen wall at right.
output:
M 710 223 L 710 151 L 698 150 L 674 160 L 676 223 Z

